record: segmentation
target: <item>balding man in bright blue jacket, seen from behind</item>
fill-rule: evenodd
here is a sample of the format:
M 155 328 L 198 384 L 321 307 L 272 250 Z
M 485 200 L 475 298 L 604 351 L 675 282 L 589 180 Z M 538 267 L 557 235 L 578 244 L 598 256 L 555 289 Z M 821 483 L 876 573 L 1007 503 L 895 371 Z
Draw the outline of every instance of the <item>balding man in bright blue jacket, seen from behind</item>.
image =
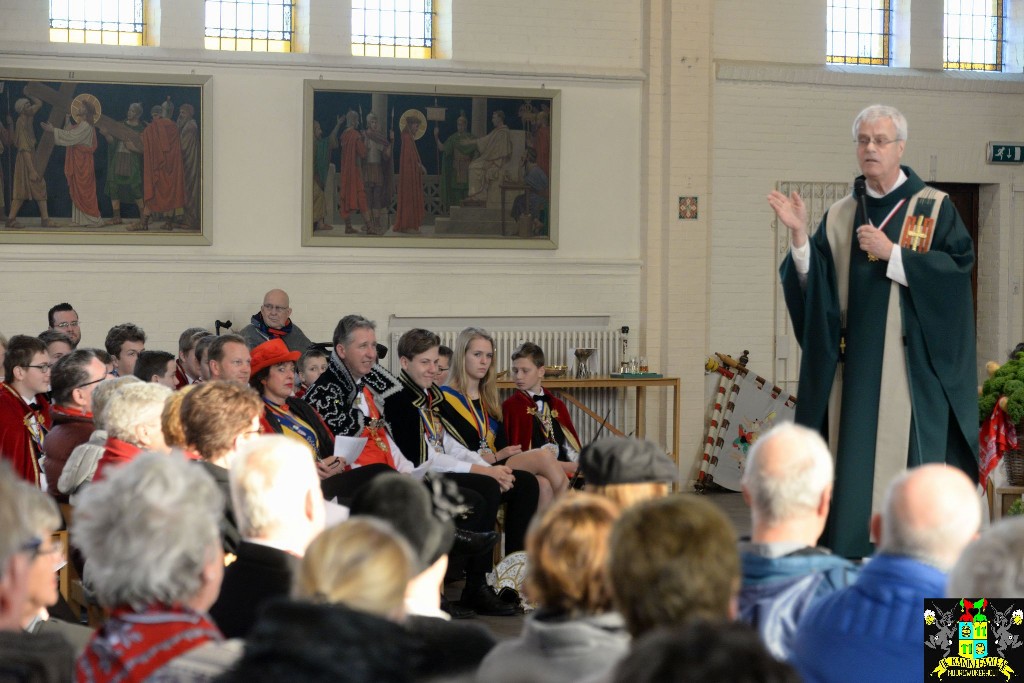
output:
M 980 526 L 981 501 L 961 470 L 922 465 L 894 479 L 871 518 L 879 551 L 797 629 L 791 661 L 804 680 L 921 680 L 924 600 L 945 595 L 947 573 Z

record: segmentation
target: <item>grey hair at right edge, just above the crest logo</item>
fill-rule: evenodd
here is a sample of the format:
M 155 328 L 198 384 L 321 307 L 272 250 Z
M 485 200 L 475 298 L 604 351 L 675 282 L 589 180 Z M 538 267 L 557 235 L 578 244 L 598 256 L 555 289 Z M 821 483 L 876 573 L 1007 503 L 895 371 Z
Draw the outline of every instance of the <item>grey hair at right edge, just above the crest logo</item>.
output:
M 1024 595 L 1024 517 L 1000 519 L 968 546 L 949 572 L 946 595 Z

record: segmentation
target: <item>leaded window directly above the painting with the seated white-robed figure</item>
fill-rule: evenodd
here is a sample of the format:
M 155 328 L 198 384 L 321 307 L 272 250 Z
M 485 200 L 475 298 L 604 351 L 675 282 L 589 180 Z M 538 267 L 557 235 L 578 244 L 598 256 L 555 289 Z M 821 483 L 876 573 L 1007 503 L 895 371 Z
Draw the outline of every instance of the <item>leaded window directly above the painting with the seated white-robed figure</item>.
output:
M 429 59 L 433 53 L 431 0 L 352 0 L 352 54 Z

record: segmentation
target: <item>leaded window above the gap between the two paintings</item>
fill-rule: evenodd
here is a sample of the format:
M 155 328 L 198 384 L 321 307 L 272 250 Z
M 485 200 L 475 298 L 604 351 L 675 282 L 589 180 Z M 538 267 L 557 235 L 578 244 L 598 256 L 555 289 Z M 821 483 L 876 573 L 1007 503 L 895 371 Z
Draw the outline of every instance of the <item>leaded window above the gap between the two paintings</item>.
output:
M 292 0 L 206 0 L 206 48 L 291 52 Z

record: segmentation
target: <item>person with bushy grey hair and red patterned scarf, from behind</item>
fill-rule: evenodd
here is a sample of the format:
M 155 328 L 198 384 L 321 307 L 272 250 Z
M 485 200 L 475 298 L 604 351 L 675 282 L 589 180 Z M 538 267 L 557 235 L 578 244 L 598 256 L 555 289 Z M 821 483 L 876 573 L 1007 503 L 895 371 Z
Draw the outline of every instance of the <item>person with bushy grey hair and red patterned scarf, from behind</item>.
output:
M 207 615 L 224 571 L 222 507 L 205 471 L 152 453 L 83 493 L 72 539 L 110 618 L 79 656 L 76 680 L 182 680 L 180 657 L 222 648 Z

